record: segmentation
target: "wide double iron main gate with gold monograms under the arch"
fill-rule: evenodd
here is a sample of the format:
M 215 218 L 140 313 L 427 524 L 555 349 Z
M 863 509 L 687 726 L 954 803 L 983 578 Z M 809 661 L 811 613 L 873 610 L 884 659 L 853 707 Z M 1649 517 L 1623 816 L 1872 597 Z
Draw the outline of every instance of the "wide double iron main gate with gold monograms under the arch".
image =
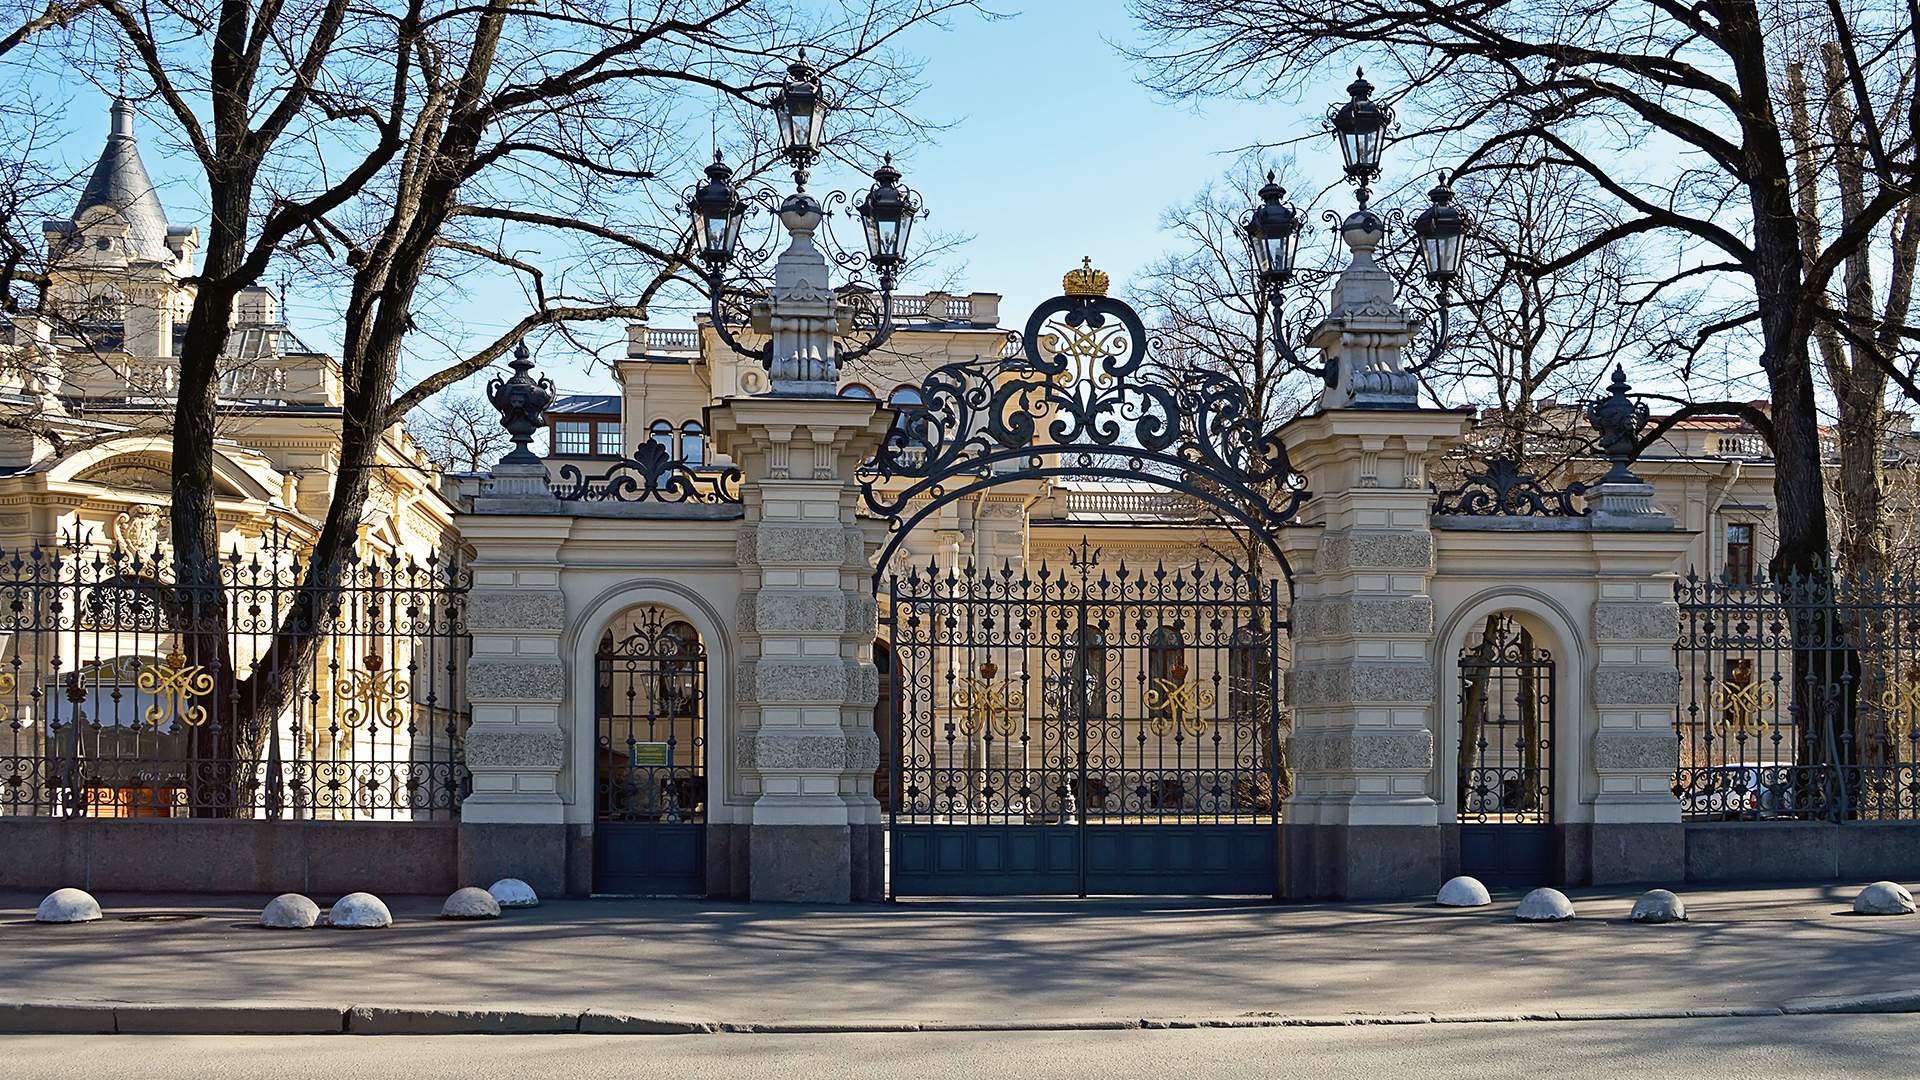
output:
M 1279 582 L 889 578 L 895 896 L 1279 890 Z

